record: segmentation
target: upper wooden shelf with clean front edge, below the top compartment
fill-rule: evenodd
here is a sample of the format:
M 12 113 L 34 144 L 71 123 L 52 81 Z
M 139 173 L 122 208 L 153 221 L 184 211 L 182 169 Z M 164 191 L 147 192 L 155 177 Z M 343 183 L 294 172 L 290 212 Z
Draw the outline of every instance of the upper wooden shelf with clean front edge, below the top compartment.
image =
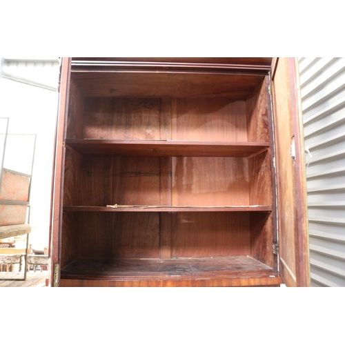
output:
M 66 139 L 81 155 L 159 157 L 248 157 L 269 148 L 266 142 Z

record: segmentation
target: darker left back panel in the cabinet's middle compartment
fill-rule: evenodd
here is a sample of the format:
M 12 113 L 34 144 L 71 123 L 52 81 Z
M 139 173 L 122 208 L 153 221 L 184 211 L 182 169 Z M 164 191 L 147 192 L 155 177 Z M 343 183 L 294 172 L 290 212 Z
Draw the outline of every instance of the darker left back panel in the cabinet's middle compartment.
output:
M 79 204 L 166 205 L 171 202 L 168 168 L 168 157 L 83 157 Z

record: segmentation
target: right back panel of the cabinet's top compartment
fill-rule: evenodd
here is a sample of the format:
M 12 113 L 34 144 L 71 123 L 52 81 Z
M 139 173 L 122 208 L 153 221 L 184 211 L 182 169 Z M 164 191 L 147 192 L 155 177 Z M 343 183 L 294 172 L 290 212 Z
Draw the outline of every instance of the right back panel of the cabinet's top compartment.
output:
M 247 141 L 246 103 L 230 99 L 177 99 L 172 139 Z

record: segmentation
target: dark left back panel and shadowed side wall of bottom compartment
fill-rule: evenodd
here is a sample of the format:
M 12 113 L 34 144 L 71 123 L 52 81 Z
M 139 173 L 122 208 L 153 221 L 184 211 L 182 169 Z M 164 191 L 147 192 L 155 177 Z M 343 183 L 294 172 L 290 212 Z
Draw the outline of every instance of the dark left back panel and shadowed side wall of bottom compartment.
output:
M 159 213 L 66 214 L 61 264 L 81 258 L 158 258 Z M 73 257 L 70 256 L 73 253 Z

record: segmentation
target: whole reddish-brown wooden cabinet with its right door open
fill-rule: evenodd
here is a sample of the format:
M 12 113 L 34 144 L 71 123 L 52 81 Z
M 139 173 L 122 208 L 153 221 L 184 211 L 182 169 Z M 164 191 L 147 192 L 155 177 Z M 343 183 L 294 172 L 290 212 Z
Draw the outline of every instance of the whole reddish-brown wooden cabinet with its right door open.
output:
M 63 59 L 51 285 L 308 286 L 296 76 L 285 58 Z

